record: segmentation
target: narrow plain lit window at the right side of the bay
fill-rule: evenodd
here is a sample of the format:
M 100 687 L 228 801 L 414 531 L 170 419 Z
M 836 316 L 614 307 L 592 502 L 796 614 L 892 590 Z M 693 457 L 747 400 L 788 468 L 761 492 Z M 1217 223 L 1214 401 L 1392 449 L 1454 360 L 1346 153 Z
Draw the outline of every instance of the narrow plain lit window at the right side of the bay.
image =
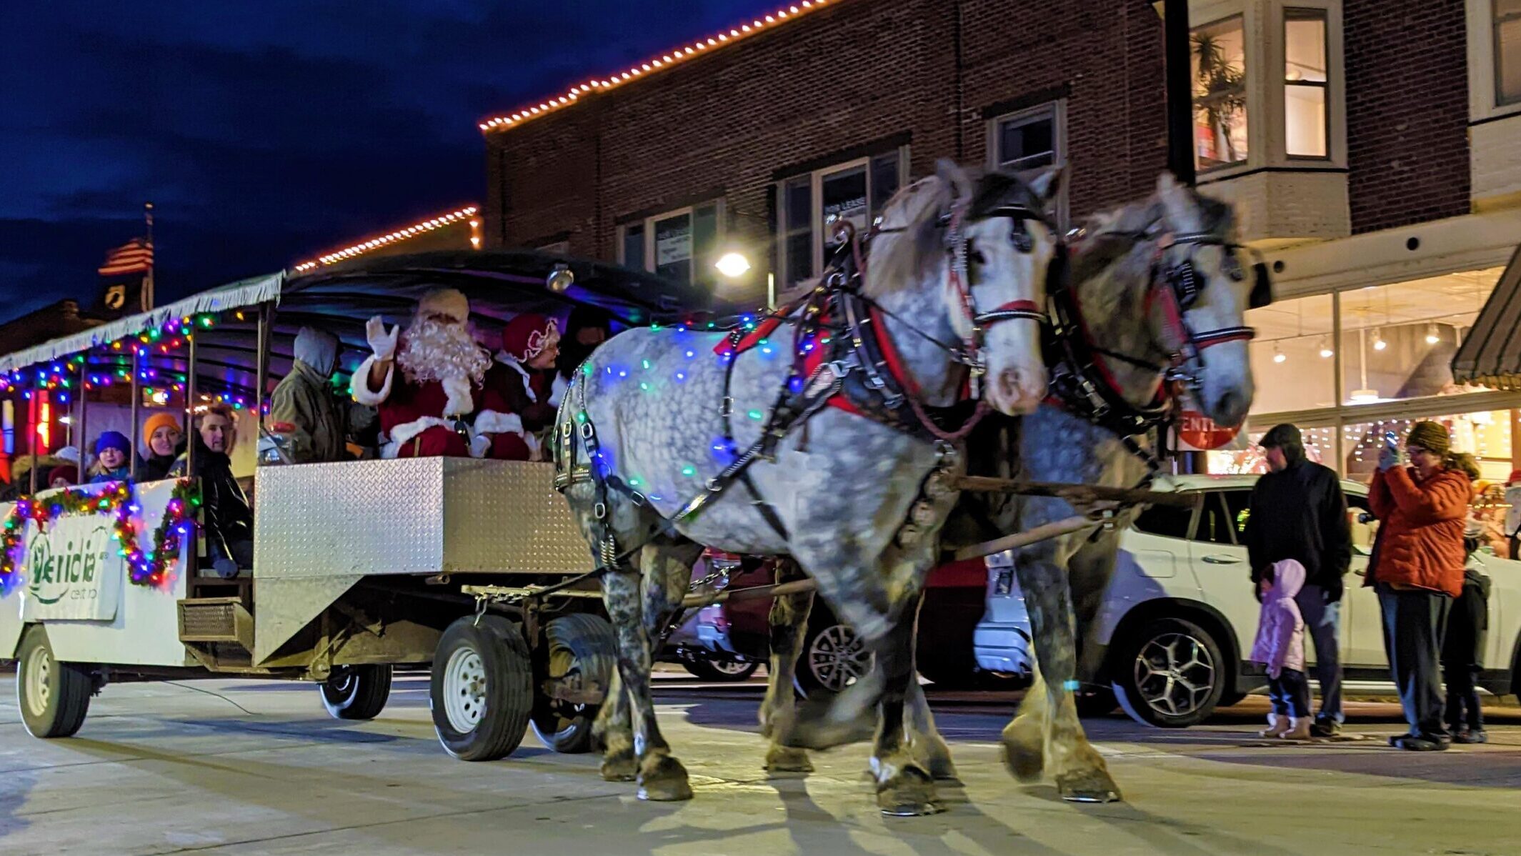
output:
M 1284 144 L 1291 158 L 1331 157 L 1328 56 L 1325 9 L 1285 9 Z

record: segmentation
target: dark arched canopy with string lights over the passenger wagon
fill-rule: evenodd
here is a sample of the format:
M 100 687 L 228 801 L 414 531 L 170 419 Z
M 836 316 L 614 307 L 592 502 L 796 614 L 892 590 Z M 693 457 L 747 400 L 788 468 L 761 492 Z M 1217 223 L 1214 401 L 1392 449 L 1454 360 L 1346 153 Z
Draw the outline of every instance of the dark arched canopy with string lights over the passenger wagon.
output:
M 555 292 L 548 287 L 546 278 L 560 266 L 575 280 Z M 144 380 L 183 382 L 189 365 L 179 336 L 192 331 L 198 389 L 252 398 L 259 365 L 256 307 L 260 304 L 277 306 L 268 331 L 271 377 L 281 377 L 291 369 L 292 344 L 303 325 L 327 330 L 342 341 L 338 368 L 348 374 L 368 353 L 365 321 L 380 315 L 388 324 L 406 324 L 417 298 L 437 287 L 464 292 L 475 319 L 488 325 L 523 312 L 563 319 L 575 307 L 601 310 L 627 325 L 710 318 L 736 310 L 706 286 L 675 283 L 602 262 L 528 249 L 423 252 L 356 258 L 306 275 L 281 272 L 240 280 L 152 312 L 0 356 L 0 373 L 14 374 L 49 363 L 56 366 L 59 360 L 87 353 L 87 377 L 125 379 L 131 348 L 113 348 L 113 342 L 141 338 L 140 369 L 146 373 Z M 211 313 L 218 315 L 214 324 L 210 324 Z M 210 325 L 184 324 L 184 319 L 204 319 Z

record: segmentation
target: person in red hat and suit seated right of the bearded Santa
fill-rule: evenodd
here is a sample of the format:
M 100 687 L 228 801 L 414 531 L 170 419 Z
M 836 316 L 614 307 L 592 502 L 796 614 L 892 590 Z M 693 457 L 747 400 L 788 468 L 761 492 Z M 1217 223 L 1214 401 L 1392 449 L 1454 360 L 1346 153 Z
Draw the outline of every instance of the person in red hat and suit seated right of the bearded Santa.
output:
M 485 374 L 485 392 L 475 421 L 470 452 L 499 461 L 535 461 L 537 433 L 555 420 L 555 357 L 560 325 L 543 315 L 523 313 L 502 328 L 496 363 Z

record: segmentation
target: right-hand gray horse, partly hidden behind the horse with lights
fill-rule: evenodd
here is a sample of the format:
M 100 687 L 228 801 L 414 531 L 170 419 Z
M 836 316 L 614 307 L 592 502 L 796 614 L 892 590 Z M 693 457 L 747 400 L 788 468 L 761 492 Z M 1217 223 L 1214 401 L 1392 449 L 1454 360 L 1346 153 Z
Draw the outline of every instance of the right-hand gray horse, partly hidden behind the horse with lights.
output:
M 1246 277 L 1234 257 L 1230 208 L 1174 184 L 1164 175 L 1147 202 L 1095 217 L 1083 249 L 1072 257 L 1071 287 L 1088 341 L 1110 356 L 1097 354 L 1115 392 L 1138 409 L 1148 409 L 1164 383 L 1173 354 L 1192 348 L 1179 366 L 1196 385 L 1205 414 L 1235 426 L 1252 403 L 1253 385 L 1243 325 L 1247 309 Z M 1179 325 L 1165 310 L 1171 284 L 1161 274 L 1188 262 L 1196 296 L 1182 309 Z M 1194 338 L 1185 342 L 1182 338 Z M 1048 354 L 1051 357 L 1054 354 Z M 969 467 L 978 474 L 1033 482 L 1068 482 L 1136 487 L 1147 465 L 1113 430 L 1068 409 L 1042 404 L 1019 420 L 990 418 L 969 439 Z M 955 549 L 1010 532 L 1028 532 L 1077 514 L 1065 500 L 966 494 L 941 532 L 943 547 Z M 1088 628 L 1113 573 L 1119 532 L 1115 529 L 1051 538 L 1016 552 L 1019 587 L 1034 629 L 1039 669 L 1021 707 L 1004 730 L 1005 759 L 1021 778 L 1049 771 L 1065 798 L 1110 801 L 1119 789 L 1103 757 L 1089 745 L 1077 718 L 1072 687 L 1077 677 L 1075 629 Z M 791 569 L 779 572 L 779 581 Z M 808 625 L 811 594 L 777 598 L 771 610 L 770 687 L 760 709 L 762 731 L 789 716 L 792 674 Z M 1088 646 L 1084 661 L 1100 652 Z M 908 695 L 908 734 L 899 734 L 900 716 L 884 722 L 878 740 L 908 739 L 919 765 L 937 778 L 952 778 L 949 750 L 934 728 L 917 683 Z M 881 757 L 881 753 L 876 753 Z M 774 736 L 767 756 L 773 771 L 808 771 L 806 756 Z M 890 807 L 890 806 L 884 806 Z M 922 813 L 929 806 L 896 806 L 900 813 Z

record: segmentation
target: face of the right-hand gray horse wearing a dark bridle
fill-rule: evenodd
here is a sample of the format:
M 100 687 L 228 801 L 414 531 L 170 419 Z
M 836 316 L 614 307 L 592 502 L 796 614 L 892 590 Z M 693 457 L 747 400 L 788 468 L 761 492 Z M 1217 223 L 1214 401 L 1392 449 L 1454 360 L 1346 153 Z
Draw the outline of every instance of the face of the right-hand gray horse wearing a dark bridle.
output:
M 1170 173 L 1157 179 L 1156 271 L 1162 280 L 1161 341 L 1183 360 L 1177 377 L 1188 383 L 1205 415 L 1238 426 L 1252 406 L 1253 330 L 1246 310 L 1265 300 L 1265 271 L 1247 277 L 1235 237 L 1235 214 L 1226 202 L 1200 196 Z

